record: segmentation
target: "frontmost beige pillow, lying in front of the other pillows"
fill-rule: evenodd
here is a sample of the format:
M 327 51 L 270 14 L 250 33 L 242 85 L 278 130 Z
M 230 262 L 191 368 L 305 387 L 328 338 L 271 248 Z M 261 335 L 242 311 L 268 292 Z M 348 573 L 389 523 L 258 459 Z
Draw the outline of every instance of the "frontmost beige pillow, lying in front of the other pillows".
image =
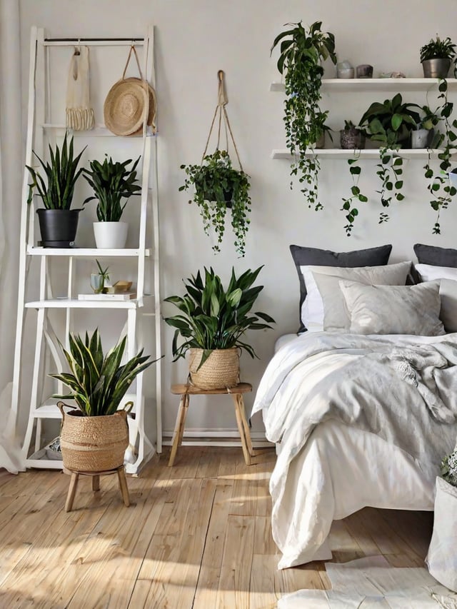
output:
M 441 336 L 441 299 L 437 281 L 418 286 L 366 286 L 340 281 L 353 334 Z

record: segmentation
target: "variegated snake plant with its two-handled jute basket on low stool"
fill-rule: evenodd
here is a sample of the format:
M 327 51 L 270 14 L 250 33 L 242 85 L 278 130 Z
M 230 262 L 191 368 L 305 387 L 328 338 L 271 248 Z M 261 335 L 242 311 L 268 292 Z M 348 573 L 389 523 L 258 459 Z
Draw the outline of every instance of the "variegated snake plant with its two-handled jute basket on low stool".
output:
M 151 366 L 149 356 L 139 351 L 121 364 L 126 337 L 104 353 L 99 331 L 84 338 L 69 335 L 69 351 L 62 351 L 70 372 L 50 374 L 70 388 L 61 399 L 73 399 L 77 408 L 66 412 L 59 402 L 63 417 L 61 452 L 64 468 L 72 471 L 105 471 L 124 464 L 129 445 L 127 413 L 132 403 L 119 409 L 122 398 L 136 376 Z

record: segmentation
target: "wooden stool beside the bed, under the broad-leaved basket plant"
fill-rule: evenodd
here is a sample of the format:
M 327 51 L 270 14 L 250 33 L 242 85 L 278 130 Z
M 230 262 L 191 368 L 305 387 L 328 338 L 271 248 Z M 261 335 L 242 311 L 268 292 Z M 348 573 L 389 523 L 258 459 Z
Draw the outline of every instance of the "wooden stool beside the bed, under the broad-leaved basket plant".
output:
M 252 465 L 253 461 L 251 457 L 257 456 L 257 453 L 252 448 L 251 433 L 249 432 L 248 422 L 246 421 L 246 413 L 244 411 L 243 393 L 247 393 L 248 391 L 252 391 L 252 385 L 250 383 L 238 383 L 238 385 L 229 389 L 199 389 L 198 387 L 189 385 L 172 385 L 171 393 L 181 396 L 181 401 L 179 402 L 179 411 L 176 418 L 169 467 L 174 464 L 176 452 L 183 441 L 184 424 L 186 423 L 190 396 L 220 396 L 224 394 L 230 395 L 233 398 L 236 413 L 236 423 L 241 436 L 241 446 L 243 447 L 244 460 L 246 465 Z

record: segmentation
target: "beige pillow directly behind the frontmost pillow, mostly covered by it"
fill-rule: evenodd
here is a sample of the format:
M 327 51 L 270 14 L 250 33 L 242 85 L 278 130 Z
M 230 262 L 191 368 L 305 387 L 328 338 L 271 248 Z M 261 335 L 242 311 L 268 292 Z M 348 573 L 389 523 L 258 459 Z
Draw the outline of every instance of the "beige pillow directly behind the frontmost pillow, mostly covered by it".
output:
M 411 261 L 358 268 L 314 267 L 313 279 L 323 301 L 323 329 L 330 332 L 347 332 L 349 329 L 350 320 L 339 286 L 341 279 L 367 285 L 404 286 L 410 269 Z

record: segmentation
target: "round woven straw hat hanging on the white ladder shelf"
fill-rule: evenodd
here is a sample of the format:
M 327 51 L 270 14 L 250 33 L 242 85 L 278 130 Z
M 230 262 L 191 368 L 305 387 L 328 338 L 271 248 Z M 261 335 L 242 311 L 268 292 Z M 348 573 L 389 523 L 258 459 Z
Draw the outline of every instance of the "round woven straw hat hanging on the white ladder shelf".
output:
M 104 119 L 106 127 L 114 134 L 131 136 L 140 133 L 148 106 L 147 124 L 155 131 L 156 94 L 148 84 L 148 99 L 144 85 L 145 81 L 141 79 L 121 79 L 109 90 L 104 103 Z

